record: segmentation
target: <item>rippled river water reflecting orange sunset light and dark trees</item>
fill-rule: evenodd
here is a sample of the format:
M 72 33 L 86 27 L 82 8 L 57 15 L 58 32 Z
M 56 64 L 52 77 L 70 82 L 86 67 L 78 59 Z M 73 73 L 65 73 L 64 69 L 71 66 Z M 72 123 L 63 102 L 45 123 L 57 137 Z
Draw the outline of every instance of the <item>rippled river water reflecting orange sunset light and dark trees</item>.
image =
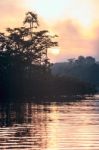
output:
M 0 150 L 99 150 L 99 99 L 0 104 Z

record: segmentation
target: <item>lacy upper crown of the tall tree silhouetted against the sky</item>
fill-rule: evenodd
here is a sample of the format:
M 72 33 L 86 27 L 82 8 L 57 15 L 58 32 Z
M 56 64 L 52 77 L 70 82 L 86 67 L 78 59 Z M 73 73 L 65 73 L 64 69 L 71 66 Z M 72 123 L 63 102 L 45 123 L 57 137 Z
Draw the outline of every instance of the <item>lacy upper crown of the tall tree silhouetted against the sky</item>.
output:
M 25 63 L 48 66 L 47 49 L 57 46 L 47 30 L 34 31 L 39 26 L 37 14 L 28 12 L 20 28 L 7 28 L 8 35 L 1 34 L 0 49 L 11 51 L 12 55 L 21 55 Z M 29 25 L 29 26 L 28 26 Z

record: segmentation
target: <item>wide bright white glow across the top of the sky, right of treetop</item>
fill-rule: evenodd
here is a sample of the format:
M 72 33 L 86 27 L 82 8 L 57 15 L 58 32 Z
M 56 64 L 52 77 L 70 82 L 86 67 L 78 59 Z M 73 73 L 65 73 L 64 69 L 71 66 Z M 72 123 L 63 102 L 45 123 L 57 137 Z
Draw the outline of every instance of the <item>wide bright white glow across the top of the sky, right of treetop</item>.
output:
M 78 0 L 25 0 L 25 5 L 31 11 L 36 11 L 50 23 L 61 19 L 75 19 L 85 27 L 93 20 L 92 3 Z

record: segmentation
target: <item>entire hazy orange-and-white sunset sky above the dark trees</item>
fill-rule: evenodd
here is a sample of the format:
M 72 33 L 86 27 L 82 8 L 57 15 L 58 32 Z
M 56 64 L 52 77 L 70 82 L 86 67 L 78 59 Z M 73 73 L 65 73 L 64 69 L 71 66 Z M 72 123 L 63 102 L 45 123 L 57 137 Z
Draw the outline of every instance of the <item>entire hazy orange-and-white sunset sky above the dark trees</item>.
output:
M 58 35 L 59 46 L 48 50 L 51 62 L 79 55 L 99 59 L 99 0 L 2 0 L 0 31 L 22 26 L 27 11 L 38 14 L 40 29 Z

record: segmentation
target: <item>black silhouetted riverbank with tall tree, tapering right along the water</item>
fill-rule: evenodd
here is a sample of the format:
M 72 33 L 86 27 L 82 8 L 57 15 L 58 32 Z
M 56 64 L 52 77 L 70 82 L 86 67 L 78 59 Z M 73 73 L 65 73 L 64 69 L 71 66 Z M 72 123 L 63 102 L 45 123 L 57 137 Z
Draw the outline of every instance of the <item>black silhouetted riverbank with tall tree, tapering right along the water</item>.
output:
M 6 33 L 0 33 L 0 101 L 33 97 L 81 99 L 96 93 L 94 84 L 69 75 L 53 75 L 47 51 L 58 46 L 57 35 L 38 31 L 38 16 L 33 12 L 26 13 L 23 23 L 20 28 L 7 28 Z

